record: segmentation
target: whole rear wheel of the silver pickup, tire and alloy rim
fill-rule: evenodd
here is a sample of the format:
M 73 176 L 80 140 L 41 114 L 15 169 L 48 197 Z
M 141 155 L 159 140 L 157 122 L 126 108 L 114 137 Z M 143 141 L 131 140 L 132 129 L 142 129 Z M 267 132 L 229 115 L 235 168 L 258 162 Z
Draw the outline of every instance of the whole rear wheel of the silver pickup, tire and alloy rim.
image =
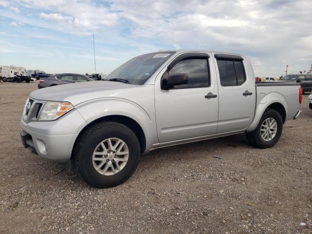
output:
M 283 119 L 280 114 L 273 110 L 267 109 L 256 129 L 252 132 L 246 132 L 246 137 L 250 144 L 258 148 L 271 148 L 279 140 L 283 131 Z

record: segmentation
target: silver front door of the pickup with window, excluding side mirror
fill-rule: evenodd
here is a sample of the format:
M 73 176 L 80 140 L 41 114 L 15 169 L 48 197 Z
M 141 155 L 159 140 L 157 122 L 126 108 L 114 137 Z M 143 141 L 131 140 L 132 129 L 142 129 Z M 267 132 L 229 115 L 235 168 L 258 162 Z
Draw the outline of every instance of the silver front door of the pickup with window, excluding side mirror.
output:
M 218 120 L 218 87 L 214 65 L 207 53 L 178 56 L 168 66 L 169 74 L 185 73 L 188 83 L 172 89 L 161 89 L 161 76 L 155 83 L 157 134 L 160 143 L 216 133 Z

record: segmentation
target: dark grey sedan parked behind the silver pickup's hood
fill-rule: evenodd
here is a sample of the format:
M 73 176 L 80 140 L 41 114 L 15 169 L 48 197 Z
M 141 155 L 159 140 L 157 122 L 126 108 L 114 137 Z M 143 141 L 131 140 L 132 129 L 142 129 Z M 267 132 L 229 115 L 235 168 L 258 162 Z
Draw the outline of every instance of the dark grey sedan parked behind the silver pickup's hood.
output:
M 48 78 L 40 78 L 38 88 L 41 89 L 59 84 L 69 84 L 83 81 L 93 81 L 93 79 L 79 74 L 58 74 Z

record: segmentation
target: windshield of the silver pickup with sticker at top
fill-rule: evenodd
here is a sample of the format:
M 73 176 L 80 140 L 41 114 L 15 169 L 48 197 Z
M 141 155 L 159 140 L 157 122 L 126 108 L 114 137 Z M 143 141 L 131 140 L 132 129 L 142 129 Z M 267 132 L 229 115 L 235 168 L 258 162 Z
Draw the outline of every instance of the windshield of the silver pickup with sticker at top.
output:
M 153 53 L 130 59 L 106 76 L 105 80 L 115 79 L 116 81 L 124 80 L 131 84 L 144 84 L 174 53 Z

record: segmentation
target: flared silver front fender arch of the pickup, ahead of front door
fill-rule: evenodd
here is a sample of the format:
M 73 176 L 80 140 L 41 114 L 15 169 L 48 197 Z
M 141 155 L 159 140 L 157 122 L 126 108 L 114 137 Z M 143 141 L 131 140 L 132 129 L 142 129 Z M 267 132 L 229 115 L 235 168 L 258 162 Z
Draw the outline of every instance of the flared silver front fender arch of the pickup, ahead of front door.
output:
M 149 105 L 153 106 L 154 105 Z M 146 138 L 146 149 L 158 142 L 155 110 L 146 110 L 137 103 L 124 98 L 98 98 L 83 102 L 75 107 L 89 124 L 96 119 L 108 116 L 124 116 L 135 120 L 142 128 Z

